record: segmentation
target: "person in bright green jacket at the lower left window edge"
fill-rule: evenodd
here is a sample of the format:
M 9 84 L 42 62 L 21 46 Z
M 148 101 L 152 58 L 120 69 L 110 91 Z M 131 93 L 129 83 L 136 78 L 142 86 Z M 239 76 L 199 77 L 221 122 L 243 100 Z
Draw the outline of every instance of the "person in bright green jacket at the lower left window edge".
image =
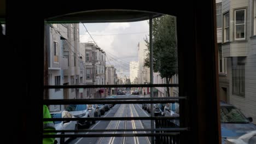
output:
M 43 107 L 43 118 L 51 118 L 51 114 L 49 112 L 49 109 L 46 105 Z M 54 123 L 49 121 L 49 122 L 44 122 L 43 125 L 44 130 L 55 130 Z M 44 133 L 44 134 L 56 134 L 56 133 Z M 43 144 L 54 144 L 55 143 L 55 138 L 44 138 L 43 139 Z

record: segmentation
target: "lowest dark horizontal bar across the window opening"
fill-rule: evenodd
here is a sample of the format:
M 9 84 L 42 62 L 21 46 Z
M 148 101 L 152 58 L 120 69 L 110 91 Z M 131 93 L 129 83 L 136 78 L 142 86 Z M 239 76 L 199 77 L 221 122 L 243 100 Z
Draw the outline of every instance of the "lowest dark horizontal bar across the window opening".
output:
M 133 136 L 172 136 L 172 135 L 179 135 L 179 133 L 146 133 L 146 134 L 73 134 L 73 135 L 43 135 L 44 138 L 49 137 L 133 137 Z

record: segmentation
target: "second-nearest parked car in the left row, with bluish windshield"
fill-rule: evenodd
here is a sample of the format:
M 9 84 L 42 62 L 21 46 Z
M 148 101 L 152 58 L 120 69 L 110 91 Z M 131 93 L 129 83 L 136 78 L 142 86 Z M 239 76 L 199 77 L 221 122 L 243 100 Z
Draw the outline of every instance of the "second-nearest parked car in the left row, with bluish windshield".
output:
M 69 111 L 74 117 L 94 117 L 95 109 L 92 105 L 68 105 L 66 111 Z M 90 126 L 90 121 L 78 121 L 78 128 L 83 126 Z M 95 121 L 92 121 L 94 124 Z

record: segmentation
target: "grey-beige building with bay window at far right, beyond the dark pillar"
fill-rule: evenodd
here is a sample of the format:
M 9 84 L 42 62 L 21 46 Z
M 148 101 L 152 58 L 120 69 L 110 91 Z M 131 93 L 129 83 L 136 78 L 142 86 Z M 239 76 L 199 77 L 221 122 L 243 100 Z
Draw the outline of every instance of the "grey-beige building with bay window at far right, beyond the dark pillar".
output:
M 235 105 L 253 119 L 256 118 L 255 4 L 255 0 L 216 1 L 220 100 Z

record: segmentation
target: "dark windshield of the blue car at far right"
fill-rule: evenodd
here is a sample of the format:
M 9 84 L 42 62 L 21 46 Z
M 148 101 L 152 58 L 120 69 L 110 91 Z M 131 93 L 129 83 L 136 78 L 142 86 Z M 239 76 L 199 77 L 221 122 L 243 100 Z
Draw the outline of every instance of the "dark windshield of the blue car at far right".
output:
M 222 123 L 248 123 L 249 121 L 234 106 L 221 106 L 220 121 Z

